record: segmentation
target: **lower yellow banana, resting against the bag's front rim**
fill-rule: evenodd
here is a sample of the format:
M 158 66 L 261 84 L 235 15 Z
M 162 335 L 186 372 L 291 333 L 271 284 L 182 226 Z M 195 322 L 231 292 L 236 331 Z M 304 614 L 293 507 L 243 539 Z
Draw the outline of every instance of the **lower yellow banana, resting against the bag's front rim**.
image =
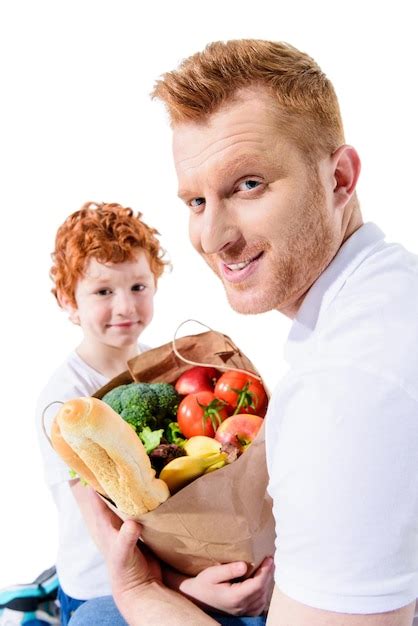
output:
M 180 456 L 167 463 L 161 470 L 160 478 L 167 484 L 171 495 L 185 487 L 195 478 L 202 476 L 212 465 L 216 469 L 226 463 L 227 455 L 224 452 L 207 454 L 205 456 Z M 214 468 L 215 469 L 215 468 Z

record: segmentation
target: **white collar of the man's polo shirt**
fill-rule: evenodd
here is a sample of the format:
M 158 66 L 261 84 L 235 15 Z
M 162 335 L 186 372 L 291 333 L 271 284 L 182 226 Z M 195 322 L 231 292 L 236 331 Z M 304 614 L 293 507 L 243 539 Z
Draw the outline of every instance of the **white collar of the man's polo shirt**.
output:
M 321 311 L 329 306 L 350 274 L 384 238 L 385 235 L 380 228 L 368 222 L 344 242 L 306 294 L 293 321 L 288 341 L 301 341 L 312 333 Z

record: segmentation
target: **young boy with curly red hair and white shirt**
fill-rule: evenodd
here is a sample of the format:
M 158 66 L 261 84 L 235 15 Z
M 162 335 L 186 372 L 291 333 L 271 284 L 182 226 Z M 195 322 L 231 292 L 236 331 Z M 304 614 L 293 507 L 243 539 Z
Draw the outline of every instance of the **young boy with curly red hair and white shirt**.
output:
M 58 229 L 52 255 L 52 292 L 82 331 L 81 343 L 54 372 L 37 406 L 46 480 L 58 510 L 57 573 L 64 626 L 78 606 L 109 596 L 111 590 L 104 560 L 85 525 L 87 490 L 52 450 L 42 432 L 42 413 L 51 402 L 92 395 L 147 349 L 138 338 L 152 320 L 157 281 L 167 262 L 157 231 L 140 218 L 119 204 L 87 203 Z M 47 428 L 58 408 L 46 411 Z M 220 567 L 192 579 L 167 574 L 167 584 L 171 579 L 197 601 L 226 612 L 245 613 L 248 607 L 254 614 L 259 605 L 261 610 L 270 564 L 239 585 L 227 582 L 233 578 L 228 566 Z M 115 615 L 112 625 L 125 623 Z

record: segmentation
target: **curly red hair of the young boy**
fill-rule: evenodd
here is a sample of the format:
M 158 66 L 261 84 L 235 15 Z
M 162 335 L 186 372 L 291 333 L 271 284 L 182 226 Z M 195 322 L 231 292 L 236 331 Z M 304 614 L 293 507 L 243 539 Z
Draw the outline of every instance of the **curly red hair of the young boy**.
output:
M 141 213 L 135 214 L 129 207 L 104 202 L 86 202 L 67 217 L 57 231 L 51 255 L 52 293 L 58 304 L 65 298 L 77 306 L 77 281 L 91 258 L 99 263 L 123 263 L 132 261 L 138 250 L 144 250 L 157 283 L 168 262 L 162 258 L 165 252 L 157 239 L 158 231 L 147 226 L 141 217 Z

